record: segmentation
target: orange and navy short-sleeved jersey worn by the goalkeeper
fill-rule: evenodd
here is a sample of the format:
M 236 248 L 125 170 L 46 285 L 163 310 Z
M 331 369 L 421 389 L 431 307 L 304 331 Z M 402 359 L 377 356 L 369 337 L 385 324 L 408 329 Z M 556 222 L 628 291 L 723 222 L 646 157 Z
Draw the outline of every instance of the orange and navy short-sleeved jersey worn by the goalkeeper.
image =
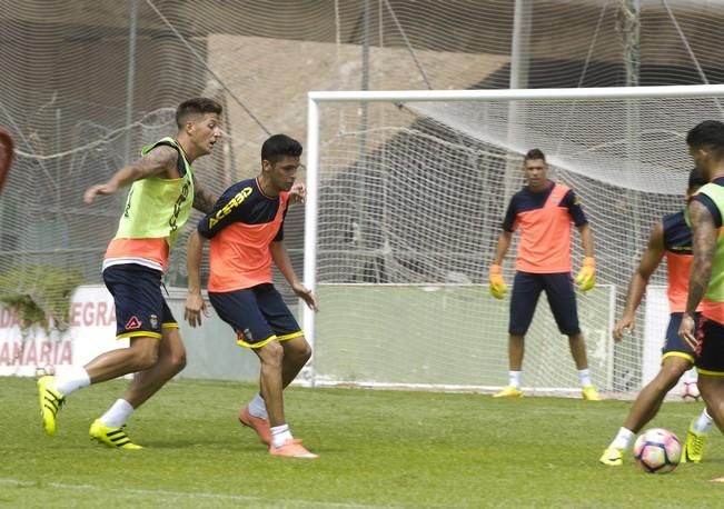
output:
M 503 229 L 520 230 L 516 270 L 532 273 L 571 272 L 571 223 L 588 221 L 573 190 L 548 182 L 544 191 L 526 186 L 510 199 Z

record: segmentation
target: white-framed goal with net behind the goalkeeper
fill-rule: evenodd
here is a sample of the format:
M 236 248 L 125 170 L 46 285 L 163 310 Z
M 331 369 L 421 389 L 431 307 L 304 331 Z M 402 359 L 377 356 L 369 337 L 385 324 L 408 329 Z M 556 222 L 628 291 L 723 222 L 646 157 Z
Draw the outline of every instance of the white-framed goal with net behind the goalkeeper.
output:
M 576 191 L 594 232 L 597 285 L 577 291 L 594 383 L 637 390 L 652 339 L 646 301 L 621 343 L 613 323 L 651 229 L 685 203 L 693 167 L 685 134 L 721 118 L 723 91 L 310 92 L 305 279 L 321 302 L 304 316 L 313 383 L 507 383 L 509 295 L 489 295 L 487 271 L 509 198 L 524 186 L 523 154 L 539 148 L 549 178 Z M 573 237 L 576 271 L 583 252 L 575 229 Z M 516 247 L 504 263 L 509 285 Z M 666 283 L 664 266 L 652 285 Z M 653 316 L 666 322 L 667 313 L 664 302 Z M 579 390 L 545 296 L 525 346 L 527 390 Z

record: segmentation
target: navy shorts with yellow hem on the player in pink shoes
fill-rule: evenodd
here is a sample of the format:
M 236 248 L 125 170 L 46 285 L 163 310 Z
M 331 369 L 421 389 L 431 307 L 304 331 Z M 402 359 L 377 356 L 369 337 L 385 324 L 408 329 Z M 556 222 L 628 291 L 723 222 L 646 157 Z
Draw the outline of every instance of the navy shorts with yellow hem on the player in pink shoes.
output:
M 244 290 L 209 292 L 221 320 L 231 326 L 237 343 L 259 348 L 269 341 L 304 336 L 297 320 L 271 283 Z

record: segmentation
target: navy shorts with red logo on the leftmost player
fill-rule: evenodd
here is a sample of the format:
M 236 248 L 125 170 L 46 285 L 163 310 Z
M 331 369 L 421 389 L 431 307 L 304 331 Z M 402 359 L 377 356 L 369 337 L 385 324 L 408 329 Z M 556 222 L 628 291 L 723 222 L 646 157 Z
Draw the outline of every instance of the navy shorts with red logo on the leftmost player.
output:
M 110 266 L 103 282 L 116 303 L 116 337 L 161 338 L 161 329 L 178 328 L 161 293 L 161 272 L 136 263 Z

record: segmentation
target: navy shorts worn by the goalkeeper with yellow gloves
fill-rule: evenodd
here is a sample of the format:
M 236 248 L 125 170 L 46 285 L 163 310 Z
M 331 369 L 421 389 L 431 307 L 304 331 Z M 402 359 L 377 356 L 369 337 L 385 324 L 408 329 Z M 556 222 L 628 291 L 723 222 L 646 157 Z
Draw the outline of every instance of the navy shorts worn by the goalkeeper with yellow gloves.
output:
M 545 291 L 561 333 L 575 336 L 581 332 L 578 308 L 569 272 L 530 273 L 516 272 L 510 296 L 510 321 L 508 333 L 525 336 L 533 321 L 540 292 Z

